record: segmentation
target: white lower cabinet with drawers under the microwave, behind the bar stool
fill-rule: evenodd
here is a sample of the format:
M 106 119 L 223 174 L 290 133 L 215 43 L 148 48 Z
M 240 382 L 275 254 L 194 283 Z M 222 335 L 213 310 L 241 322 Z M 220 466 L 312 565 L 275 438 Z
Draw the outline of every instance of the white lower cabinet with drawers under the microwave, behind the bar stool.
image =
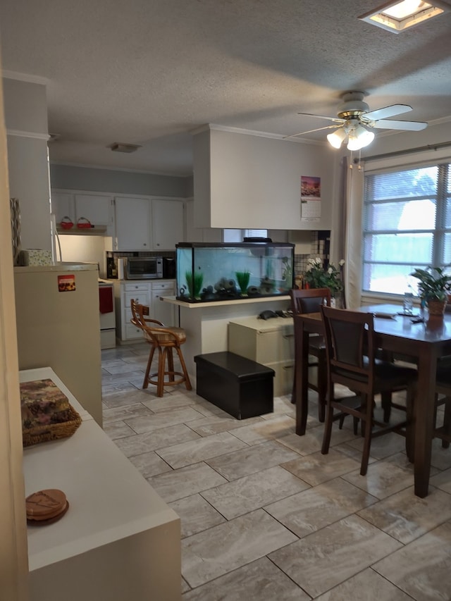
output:
M 133 342 L 142 339 L 142 330 L 130 323 L 132 299 L 139 304 L 149 306 L 149 318 L 158 319 L 165 326 L 175 326 L 175 306 L 163 303 L 162 296 L 175 294 L 175 280 L 118 281 L 114 284 L 116 302 L 116 337 L 121 342 Z

